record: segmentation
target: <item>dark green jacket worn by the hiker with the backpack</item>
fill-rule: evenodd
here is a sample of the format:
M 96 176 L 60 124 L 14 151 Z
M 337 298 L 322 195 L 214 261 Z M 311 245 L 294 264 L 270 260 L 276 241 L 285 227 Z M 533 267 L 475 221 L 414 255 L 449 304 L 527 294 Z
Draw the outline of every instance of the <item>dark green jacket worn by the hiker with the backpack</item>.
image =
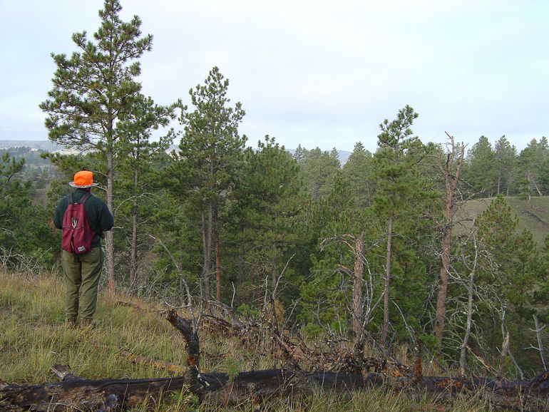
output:
M 73 200 L 80 200 L 87 191 L 87 189 L 76 189 L 73 193 Z M 53 214 L 53 225 L 56 225 L 58 229 L 63 229 L 63 216 L 65 215 L 67 206 L 68 199 L 65 196 L 61 199 L 61 202 L 58 203 L 56 211 Z M 102 236 L 103 232 L 113 228 L 113 215 L 111 215 L 105 202 L 95 196 L 86 200 L 86 203 L 84 203 L 84 210 L 86 210 L 86 217 L 88 217 L 90 229 L 97 234 L 91 240 L 91 247 L 101 247 L 101 237 L 99 237 L 99 235 Z

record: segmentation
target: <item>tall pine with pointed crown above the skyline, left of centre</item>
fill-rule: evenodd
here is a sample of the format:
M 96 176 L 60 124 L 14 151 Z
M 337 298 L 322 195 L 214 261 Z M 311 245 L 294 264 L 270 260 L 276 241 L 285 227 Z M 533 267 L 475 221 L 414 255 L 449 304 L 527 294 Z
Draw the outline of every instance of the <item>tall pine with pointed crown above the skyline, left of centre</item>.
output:
M 210 299 L 210 274 L 215 253 L 216 297 L 221 298 L 220 222 L 222 202 L 235 184 L 237 170 L 242 165 L 246 136 L 238 134 L 238 125 L 245 115 L 242 104 L 229 107 L 229 81 L 219 68 L 210 70 L 205 84 L 190 89 L 195 110 L 184 113 L 185 125 L 177 159 L 173 164 L 180 184 L 175 190 L 190 191 L 188 198 L 199 214 L 202 238 L 202 286 L 206 302 Z M 179 187 L 179 189 L 178 189 Z M 179 193 L 180 196 L 187 194 Z M 213 250 L 215 247 L 215 252 Z

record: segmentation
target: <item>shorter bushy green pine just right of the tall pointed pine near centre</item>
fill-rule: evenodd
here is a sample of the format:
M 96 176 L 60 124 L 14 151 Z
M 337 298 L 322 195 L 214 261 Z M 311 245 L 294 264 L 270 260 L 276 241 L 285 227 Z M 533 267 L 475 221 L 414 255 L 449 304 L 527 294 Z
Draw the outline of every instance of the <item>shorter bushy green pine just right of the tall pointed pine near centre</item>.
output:
M 250 304 L 250 288 L 260 287 L 256 296 L 267 295 L 272 310 L 275 302 L 289 300 L 290 292 L 283 284 L 293 289 L 297 283 L 292 279 L 291 262 L 302 207 L 297 162 L 275 143 L 275 138 L 265 136 L 265 143 L 259 141 L 257 150 L 245 150 L 245 163 L 232 197 L 236 201 L 232 207 L 233 236 L 240 249 L 233 271 L 238 273 L 237 291 Z

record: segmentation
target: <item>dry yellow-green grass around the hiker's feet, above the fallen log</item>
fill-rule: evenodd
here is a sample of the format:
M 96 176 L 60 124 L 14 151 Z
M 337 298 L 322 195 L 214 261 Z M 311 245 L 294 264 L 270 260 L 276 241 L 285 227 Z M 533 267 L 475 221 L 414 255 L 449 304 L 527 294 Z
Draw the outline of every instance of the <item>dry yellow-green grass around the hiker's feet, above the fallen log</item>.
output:
M 155 378 L 168 372 L 134 364 L 128 354 L 184 365 L 186 354 L 178 331 L 160 316 L 166 309 L 123 293 L 100 290 L 96 329 L 68 329 L 63 322 L 63 279 L 48 274 L 0 271 L 0 378 L 12 383 L 39 383 L 53 378 L 53 364 L 70 366 L 83 378 Z M 121 306 L 129 302 L 135 307 Z M 185 314 L 181 314 L 185 316 Z M 281 366 L 269 343 L 247 344 L 237 337 L 199 331 L 203 371 L 247 371 Z

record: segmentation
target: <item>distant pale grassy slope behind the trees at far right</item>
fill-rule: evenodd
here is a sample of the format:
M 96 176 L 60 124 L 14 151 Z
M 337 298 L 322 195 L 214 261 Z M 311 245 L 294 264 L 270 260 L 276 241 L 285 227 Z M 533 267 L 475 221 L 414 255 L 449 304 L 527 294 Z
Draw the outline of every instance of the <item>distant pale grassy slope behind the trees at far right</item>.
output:
M 461 217 L 476 217 L 482 213 L 493 199 L 470 200 L 461 213 Z M 517 232 L 521 233 L 527 229 L 532 232 L 538 248 L 543 247 L 543 240 L 549 235 L 549 197 L 532 197 L 529 204 L 520 197 L 506 197 L 507 205 L 511 208 L 511 213 L 518 217 Z M 472 222 L 463 222 L 464 227 L 471 228 Z M 456 233 L 463 233 L 466 230 L 459 226 L 456 227 Z

